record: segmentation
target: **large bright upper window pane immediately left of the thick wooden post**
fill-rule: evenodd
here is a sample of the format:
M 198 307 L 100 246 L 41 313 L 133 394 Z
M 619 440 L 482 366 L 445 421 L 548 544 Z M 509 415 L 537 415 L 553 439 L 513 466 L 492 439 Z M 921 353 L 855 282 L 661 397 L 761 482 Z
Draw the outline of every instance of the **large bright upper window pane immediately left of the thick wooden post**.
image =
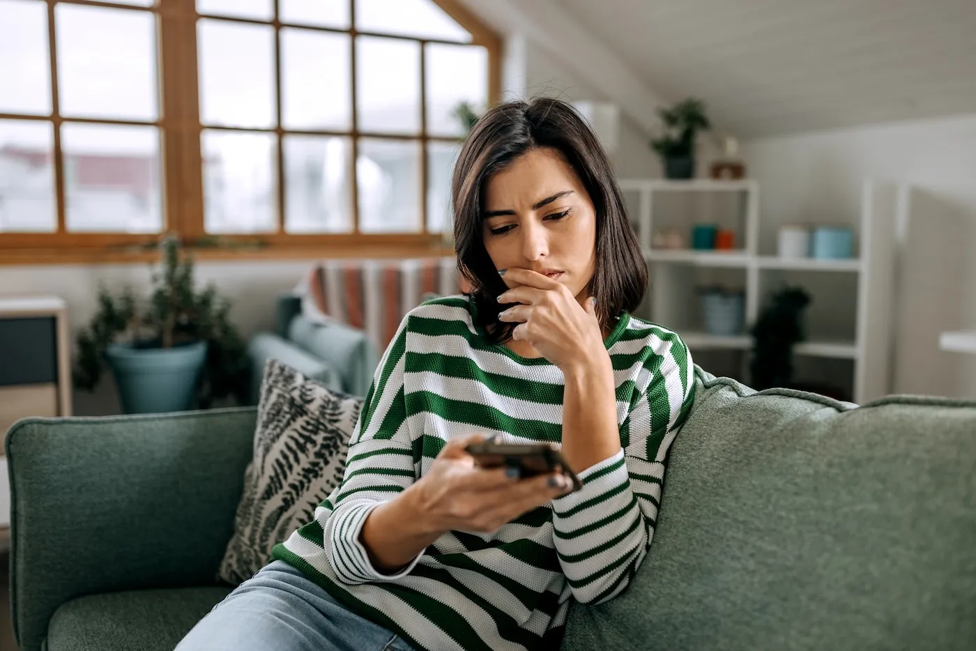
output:
M 61 115 L 155 120 L 155 15 L 69 4 L 55 12 Z

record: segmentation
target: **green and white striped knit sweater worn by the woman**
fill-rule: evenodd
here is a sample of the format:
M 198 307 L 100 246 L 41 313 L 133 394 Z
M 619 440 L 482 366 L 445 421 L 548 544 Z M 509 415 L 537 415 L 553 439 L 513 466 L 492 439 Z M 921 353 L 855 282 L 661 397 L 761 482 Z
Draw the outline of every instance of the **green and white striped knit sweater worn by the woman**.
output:
M 359 542 L 363 522 L 423 476 L 446 440 L 561 441 L 562 372 L 489 344 L 472 309 L 449 297 L 407 314 L 366 396 L 342 484 L 273 556 L 419 648 L 554 648 L 570 597 L 614 597 L 647 553 L 668 449 L 692 401 L 691 357 L 671 331 L 624 314 L 606 340 L 623 450 L 580 472 L 580 491 L 491 534 L 446 533 L 401 572 L 381 574 Z

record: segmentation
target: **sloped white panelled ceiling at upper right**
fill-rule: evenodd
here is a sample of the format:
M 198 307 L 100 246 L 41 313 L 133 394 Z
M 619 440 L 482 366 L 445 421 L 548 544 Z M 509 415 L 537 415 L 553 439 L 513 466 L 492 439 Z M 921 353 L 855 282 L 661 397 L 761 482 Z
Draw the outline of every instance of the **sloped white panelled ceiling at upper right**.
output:
M 976 112 L 976 0 L 552 1 L 741 138 Z

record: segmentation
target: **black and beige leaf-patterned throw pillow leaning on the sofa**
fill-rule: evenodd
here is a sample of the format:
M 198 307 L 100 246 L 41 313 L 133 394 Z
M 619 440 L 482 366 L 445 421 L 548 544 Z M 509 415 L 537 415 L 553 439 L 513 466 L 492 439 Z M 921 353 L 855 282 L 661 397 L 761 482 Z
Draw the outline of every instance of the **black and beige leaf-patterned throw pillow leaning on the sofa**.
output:
M 362 399 L 306 380 L 275 359 L 264 366 L 254 458 L 219 574 L 237 585 L 306 522 L 343 479 Z

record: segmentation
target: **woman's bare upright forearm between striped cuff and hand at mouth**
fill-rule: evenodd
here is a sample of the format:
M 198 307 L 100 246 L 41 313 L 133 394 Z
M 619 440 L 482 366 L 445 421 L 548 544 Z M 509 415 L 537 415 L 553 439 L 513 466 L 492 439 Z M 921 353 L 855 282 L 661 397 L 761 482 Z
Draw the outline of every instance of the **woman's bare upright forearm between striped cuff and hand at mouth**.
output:
M 563 369 L 562 454 L 579 472 L 620 451 L 613 366 L 607 354 Z

